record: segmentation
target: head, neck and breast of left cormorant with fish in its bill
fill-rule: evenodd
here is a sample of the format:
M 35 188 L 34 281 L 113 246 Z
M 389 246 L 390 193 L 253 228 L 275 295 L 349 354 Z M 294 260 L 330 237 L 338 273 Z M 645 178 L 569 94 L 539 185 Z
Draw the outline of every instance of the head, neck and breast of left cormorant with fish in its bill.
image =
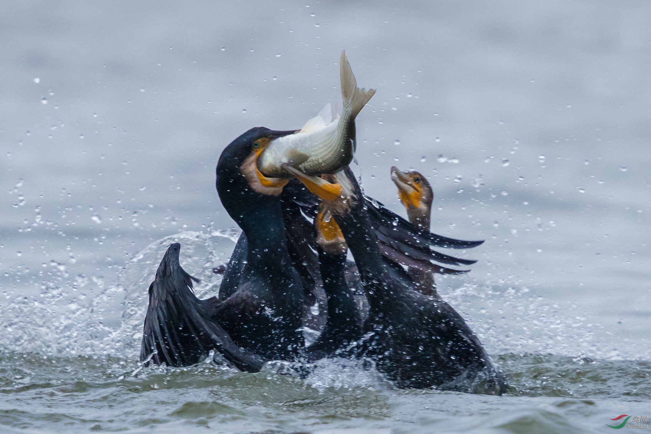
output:
M 293 360 L 303 349 L 303 278 L 287 249 L 281 193 L 288 180 L 266 178 L 256 159 L 277 137 L 294 131 L 249 129 L 223 150 L 217 163 L 217 193 L 230 217 L 246 234 L 238 243 L 245 260 L 238 282 L 220 295 L 214 318 L 231 338 L 264 359 Z

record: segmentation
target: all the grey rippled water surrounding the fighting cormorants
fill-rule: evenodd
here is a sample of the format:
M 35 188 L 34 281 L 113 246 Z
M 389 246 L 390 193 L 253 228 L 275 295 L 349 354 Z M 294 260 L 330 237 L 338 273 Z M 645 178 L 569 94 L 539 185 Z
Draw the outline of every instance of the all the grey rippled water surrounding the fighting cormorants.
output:
M 0 432 L 593 433 L 651 416 L 648 2 L 21 1 L 0 14 Z M 434 187 L 432 230 L 486 239 L 442 296 L 505 396 L 401 390 L 320 361 L 137 362 L 171 242 L 217 293 L 239 234 L 221 150 L 339 96 L 368 195 Z M 306 314 L 306 318 L 309 314 Z M 309 319 L 309 318 L 307 318 Z M 311 334 L 312 336 L 312 334 Z M 626 429 L 626 428 L 625 428 Z M 640 429 L 639 431 L 644 431 Z

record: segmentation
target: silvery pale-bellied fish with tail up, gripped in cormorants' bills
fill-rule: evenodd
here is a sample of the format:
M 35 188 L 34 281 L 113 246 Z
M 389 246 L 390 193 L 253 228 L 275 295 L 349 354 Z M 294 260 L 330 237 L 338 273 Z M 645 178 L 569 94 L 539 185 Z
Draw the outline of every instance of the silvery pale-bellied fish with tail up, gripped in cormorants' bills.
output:
M 342 113 L 333 120 L 330 104 L 293 135 L 279 137 L 257 159 L 258 169 L 270 178 L 292 178 L 281 166 L 288 163 L 307 175 L 329 174 L 346 167 L 355 152 L 355 117 L 375 94 L 357 87 L 345 51 L 339 61 Z

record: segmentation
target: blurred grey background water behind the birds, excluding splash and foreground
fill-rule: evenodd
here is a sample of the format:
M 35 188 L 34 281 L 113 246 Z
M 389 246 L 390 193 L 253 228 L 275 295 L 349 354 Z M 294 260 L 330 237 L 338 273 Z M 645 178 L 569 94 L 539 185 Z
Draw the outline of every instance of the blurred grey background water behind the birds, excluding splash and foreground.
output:
M 389 167 L 419 170 L 432 230 L 486 239 L 464 253 L 479 260 L 468 277 L 439 282 L 488 351 L 651 359 L 648 2 L 1 10 L 5 351 L 52 348 L 51 336 L 12 341 L 16 299 L 94 299 L 153 241 L 236 234 L 214 189 L 221 150 L 339 101 L 346 49 L 358 85 L 378 89 L 357 120 L 366 193 L 402 213 Z M 54 353 L 84 353 L 66 342 Z

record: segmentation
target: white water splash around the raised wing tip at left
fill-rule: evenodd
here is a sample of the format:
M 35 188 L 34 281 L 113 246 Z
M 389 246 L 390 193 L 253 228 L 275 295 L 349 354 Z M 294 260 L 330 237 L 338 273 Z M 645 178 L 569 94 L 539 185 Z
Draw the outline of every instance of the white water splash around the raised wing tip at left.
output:
M 137 358 L 147 289 L 165 250 L 175 242 L 182 246 L 182 267 L 201 279 L 195 286 L 197 296 L 217 295 L 222 276 L 212 269 L 228 262 L 235 237 L 222 231 L 181 232 L 159 239 L 133 256 L 119 271 L 115 284 L 107 288 L 100 278 L 70 278 L 65 267 L 53 267 L 59 273 L 57 278 L 42 283 L 38 296 L 8 296 L 0 303 L 0 349 Z

